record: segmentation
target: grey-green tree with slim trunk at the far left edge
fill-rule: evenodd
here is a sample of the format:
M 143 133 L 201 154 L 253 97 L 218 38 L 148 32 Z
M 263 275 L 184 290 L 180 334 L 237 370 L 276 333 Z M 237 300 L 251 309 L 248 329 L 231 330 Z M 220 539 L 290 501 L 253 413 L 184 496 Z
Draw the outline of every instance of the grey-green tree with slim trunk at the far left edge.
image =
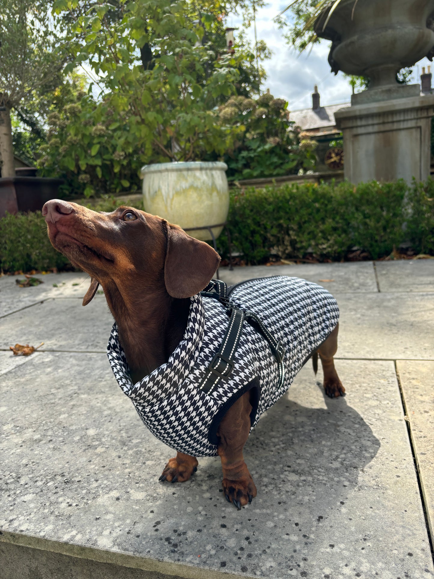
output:
M 0 0 L 0 40 L 0 168 L 13 177 L 10 111 L 23 119 L 32 94 L 54 89 L 67 52 L 46 2 Z

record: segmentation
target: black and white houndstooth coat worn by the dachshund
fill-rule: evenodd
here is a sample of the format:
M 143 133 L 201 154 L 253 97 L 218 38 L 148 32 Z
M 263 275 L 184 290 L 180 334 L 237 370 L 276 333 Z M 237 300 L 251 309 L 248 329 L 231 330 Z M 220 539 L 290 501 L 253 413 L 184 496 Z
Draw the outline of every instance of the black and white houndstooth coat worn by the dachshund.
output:
M 157 438 L 187 455 L 217 455 L 219 423 L 248 390 L 253 394 L 254 428 L 260 415 L 288 390 L 304 362 L 339 320 L 333 296 L 321 286 L 296 277 L 247 280 L 231 287 L 228 294 L 241 310 L 255 313 L 284 345 L 280 369 L 269 342 L 253 325 L 245 323 L 230 375 L 212 376 L 212 388 L 208 392 L 201 389 L 228 327 L 225 305 L 207 296 L 190 298 L 181 343 L 166 364 L 137 384 L 131 382 L 116 324 L 109 339 L 107 355 L 113 373 L 142 421 Z

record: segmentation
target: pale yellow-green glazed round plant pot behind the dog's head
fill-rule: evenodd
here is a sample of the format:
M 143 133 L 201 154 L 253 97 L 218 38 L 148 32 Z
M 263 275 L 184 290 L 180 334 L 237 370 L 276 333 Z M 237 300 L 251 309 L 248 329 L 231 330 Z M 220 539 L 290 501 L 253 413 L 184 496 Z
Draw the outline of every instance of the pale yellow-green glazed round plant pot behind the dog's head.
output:
M 229 211 L 226 163 L 156 163 L 142 167 L 144 208 L 206 241 L 222 232 Z

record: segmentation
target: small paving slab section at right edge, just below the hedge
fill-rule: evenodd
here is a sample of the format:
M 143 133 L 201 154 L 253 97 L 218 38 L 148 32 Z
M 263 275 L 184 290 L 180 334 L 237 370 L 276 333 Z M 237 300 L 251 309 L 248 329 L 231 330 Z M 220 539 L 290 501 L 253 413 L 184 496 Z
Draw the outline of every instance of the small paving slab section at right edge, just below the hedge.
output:
M 384 292 L 434 292 L 434 259 L 375 262 L 378 285 Z

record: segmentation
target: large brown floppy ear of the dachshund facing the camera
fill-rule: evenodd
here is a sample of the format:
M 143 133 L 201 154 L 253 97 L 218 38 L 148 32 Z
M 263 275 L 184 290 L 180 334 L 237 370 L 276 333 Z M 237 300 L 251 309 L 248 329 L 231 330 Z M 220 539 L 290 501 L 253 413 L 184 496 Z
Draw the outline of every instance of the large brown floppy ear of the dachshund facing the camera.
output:
M 207 243 L 167 223 L 164 283 L 172 298 L 190 298 L 203 290 L 219 263 L 219 254 Z

